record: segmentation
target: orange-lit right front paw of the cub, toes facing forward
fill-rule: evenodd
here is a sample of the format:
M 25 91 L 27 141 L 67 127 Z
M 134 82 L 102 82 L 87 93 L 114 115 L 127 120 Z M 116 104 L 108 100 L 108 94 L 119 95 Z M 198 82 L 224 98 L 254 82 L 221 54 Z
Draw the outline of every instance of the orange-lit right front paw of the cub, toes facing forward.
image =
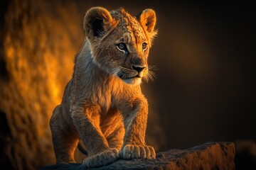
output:
M 125 145 L 124 149 L 120 152 L 120 155 L 123 159 L 155 159 L 156 152 L 153 147 L 148 145 Z

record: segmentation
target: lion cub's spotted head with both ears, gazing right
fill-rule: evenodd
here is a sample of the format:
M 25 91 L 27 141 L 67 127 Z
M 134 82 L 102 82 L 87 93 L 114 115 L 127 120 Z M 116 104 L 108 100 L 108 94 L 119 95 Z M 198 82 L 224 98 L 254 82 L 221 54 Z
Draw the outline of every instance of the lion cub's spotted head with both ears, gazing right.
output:
M 90 41 L 92 58 L 105 72 L 127 84 L 140 84 L 151 79 L 147 58 L 156 35 L 156 14 L 145 9 L 137 17 L 120 8 L 90 8 L 85 14 L 85 36 Z

